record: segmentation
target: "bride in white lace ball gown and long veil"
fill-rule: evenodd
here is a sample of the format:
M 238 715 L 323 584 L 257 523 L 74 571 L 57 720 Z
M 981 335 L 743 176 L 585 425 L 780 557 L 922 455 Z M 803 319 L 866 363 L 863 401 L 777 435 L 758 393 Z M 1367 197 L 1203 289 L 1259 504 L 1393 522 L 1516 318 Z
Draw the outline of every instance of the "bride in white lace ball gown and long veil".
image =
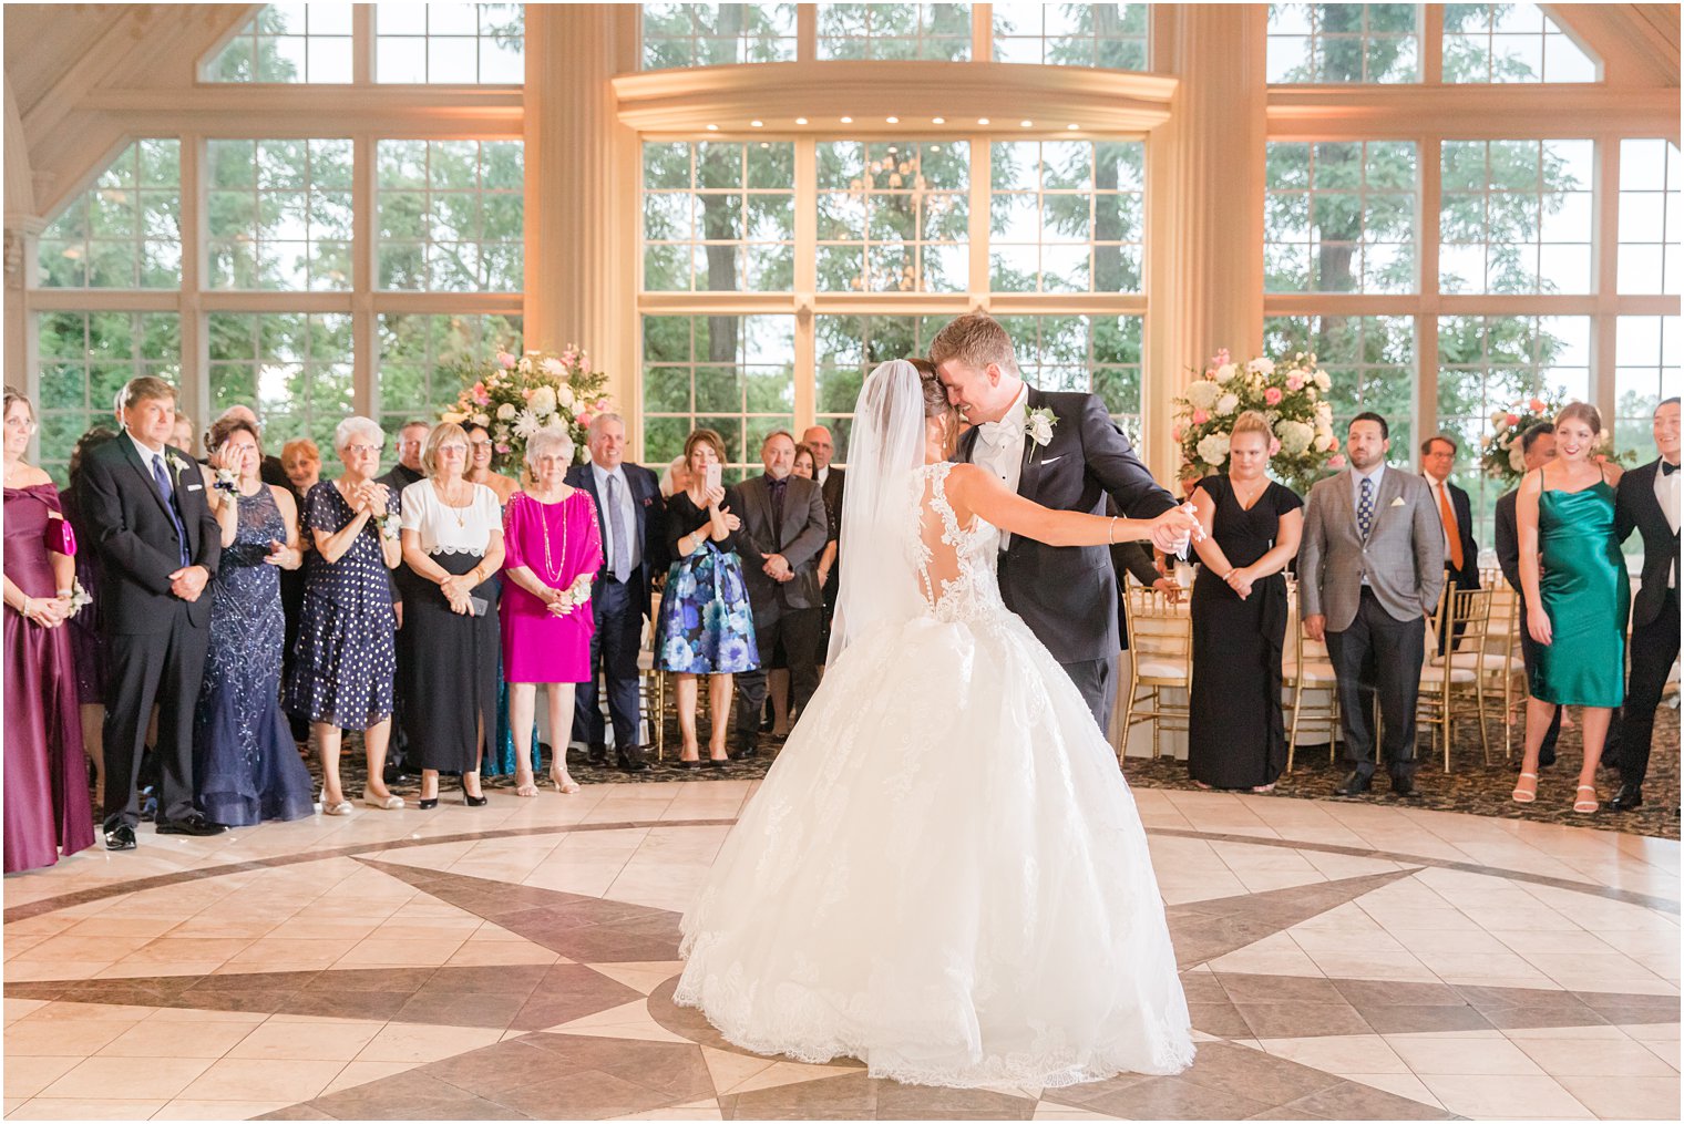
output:
M 994 565 L 1000 530 L 1196 522 L 1049 512 L 946 463 L 957 436 L 935 375 L 871 372 L 827 675 L 684 917 L 675 999 L 746 1050 L 909 1084 L 1175 1074 L 1187 1003 L 1133 796 Z

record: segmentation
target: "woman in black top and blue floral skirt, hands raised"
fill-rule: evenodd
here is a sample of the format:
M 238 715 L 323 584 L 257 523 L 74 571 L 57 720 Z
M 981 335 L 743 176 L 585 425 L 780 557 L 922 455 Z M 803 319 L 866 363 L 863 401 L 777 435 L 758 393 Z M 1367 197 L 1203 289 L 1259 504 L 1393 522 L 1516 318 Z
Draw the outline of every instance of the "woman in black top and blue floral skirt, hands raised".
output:
M 679 762 L 699 769 L 695 737 L 695 676 L 707 675 L 712 735 L 709 767 L 724 767 L 726 722 L 731 713 L 731 676 L 759 666 L 754 611 L 743 584 L 738 555 L 743 496 L 736 488 L 709 486 L 707 468 L 724 466 L 726 443 L 712 429 L 697 429 L 684 441 L 690 486 L 672 496 L 667 508 L 667 549 L 675 559 L 660 599 L 655 651 L 663 671 L 677 676 Z

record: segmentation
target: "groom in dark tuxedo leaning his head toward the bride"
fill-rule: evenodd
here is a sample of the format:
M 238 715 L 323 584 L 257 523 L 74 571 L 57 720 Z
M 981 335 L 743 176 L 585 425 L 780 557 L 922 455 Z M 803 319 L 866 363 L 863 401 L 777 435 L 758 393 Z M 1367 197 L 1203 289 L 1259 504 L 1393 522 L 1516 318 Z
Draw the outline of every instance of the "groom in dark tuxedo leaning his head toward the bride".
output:
M 1093 394 L 1044 394 L 1017 374 L 1012 338 L 985 313 L 960 316 L 930 343 L 948 400 L 972 429 L 958 459 L 980 464 L 1026 500 L 1105 515 L 1154 518 L 1175 500 L 1152 480 Z M 1180 542 L 1154 540 L 1177 552 Z M 1063 665 L 1101 730 L 1116 698 L 1116 579 L 1105 547 L 1049 547 L 1000 535 L 1000 596 Z

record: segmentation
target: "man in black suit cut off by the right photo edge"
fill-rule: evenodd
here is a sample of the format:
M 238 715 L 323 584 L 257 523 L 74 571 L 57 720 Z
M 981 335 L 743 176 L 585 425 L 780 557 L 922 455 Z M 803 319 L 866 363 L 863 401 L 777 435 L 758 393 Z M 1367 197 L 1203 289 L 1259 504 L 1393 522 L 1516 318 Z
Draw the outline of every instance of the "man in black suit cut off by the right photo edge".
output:
M 1632 606 L 1632 673 L 1620 724 L 1620 791 L 1608 804 L 1630 811 L 1644 803 L 1655 707 L 1679 655 L 1679 400 L 1655 407 L 1660 456 L 1620 476 L 1615 533 L 1644 537 L 1644 584 Z

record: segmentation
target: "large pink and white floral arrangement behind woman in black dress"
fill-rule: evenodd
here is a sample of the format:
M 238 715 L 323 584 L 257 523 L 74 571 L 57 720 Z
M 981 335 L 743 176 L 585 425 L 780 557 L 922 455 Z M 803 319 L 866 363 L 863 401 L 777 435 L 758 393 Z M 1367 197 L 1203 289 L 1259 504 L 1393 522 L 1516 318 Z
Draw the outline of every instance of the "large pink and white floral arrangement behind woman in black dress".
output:
M 1204 375 L 1175 399 L 1170 436 L 1182 459 L 1199 476 L 1228 471 L 1228 436 L 1246 411 L 1263 414 L 1270 439 L 1270 471 L 1297 491 L 1307 491 L 1320 475 L 1344 468 L 1334 437 L 1334 407 L 1327 400 L 1332 380 L 1315 365 L 1315 355 L 1297 353 L 1276 363 L 1258 357 L 1243 367 L 1223 348 Z

